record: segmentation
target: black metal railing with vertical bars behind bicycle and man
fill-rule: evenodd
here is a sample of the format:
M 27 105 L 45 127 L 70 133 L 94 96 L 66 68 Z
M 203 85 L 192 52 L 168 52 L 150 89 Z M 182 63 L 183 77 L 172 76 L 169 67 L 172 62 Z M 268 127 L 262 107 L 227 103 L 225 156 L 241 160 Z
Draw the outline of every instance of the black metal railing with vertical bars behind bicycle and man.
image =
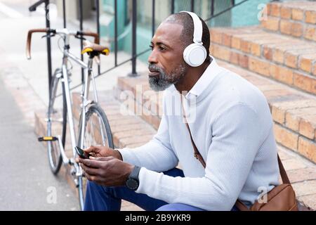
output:
M 79 1 L 79 29 L 82 31 L 84 30 L 84 21 L 83 21 L 83 4 L 82 4 L 82 0 L 77 0 Z M 97 27 L 97 32 L 100 35 L 100 4 L 99 4 L 99 0 L 95 0 L 96 1 L 96 27 Z M 137 35 L 136 35 L 136 28 L 137 28 L 137 0 L 133 0 L 132 1 L 132 15 L 131 15 L 131 23 L 132 23 L 132 41 L 131 41 L 131 58 L 129 58 L 128 60 L 124 60 L 121 63 L 117 62 L 117 53 L 118 53 L 118 32 L 117 32 L 117 24 L 118 24 L 118 10 L 117 10 L 117 0 L 113 0 L 114 1 L 114 67 L 105 70 L 103 72 L 100 72 L 100 65 L 98 66 L 98 75 L 96 75 L 96 77 L 99 77 L 100 75 L 105 75 L 107 72 L 110 72 L 112 70 L 114 70 L 115 68 L 124 65 L 126 63 L 129 63 L 130 61 L 132 61 L 132 70 L 131 73 L 129 73 L 129 75 L 131 76 L 137 76 L 137 70 L 136 70 L 136 60 L 138 57 L 142 56 L 143 54 L 147 53 L 148 51 L 150 51 L 150 49 L 145 49 L 145 51 L 142 51 L 140 53 L 137 53 Z M 219 15 L 222 15 L 223 13 L 226 13 L 230 10 L 232 10 L 232 8 L 235 8 L 236 6 L 239 6 L 241 4 L 244 4 L 246 1 L 249 0 L 244 0 L 244 1 L 240 1 L 239 3 L 235 4 L 234 0 L 230 0 L 230 7 L 226 8 L 223 11 L 220 11 L 219 13 L 215 14 L 215 0 L 211 0 L 211 4 L 210 4 L 210 15 L 211 17 L 206 18 L 204 21 L 209 21 L 212 20 L 213 18 L 218 17 Z M 49 4 L 49 0 L 40 0 L 37 1 L 37 3 L 33 4 L 32 6 L 29 7 L 29 11 L 35 11 L 37 6 L 39 6 L 40 4 L 45 4 L 45 8 L 46 8 L 46 15 L 48 15 L 49 13 L 49 8 L 47 7 Z M 170 1 L 171 4 L 171 13 L 175 13 L 175 0 L 171 0 Z M 155 23 L 156 23 L 156 14 L 155 14 L 155 5 L 156 5 L 156 1 L 152 0 L 152 36 L 154 35 L 155 32 Z M 65 13 L 65 0 L 62 0 L 62 10 L 63 10 L 63 25 L 64 27 L 67 26 L 66 24 L 66 13 Z M 195 0 L 191 0 L 190 1 L 190 10 L 192 12 L 195 11 Z M 50 23 L 49 20 L 46 16 L 46 27 L 50 27 Z M 47 54 L 48 54 L 48 82 L 49 84 L 51 84 L 51 39 L 49 37 L 49 35 L 46 37 L 47 40 Z M 82 49 L 82 40 L 81 40 L 81 49 Z M 82 57 L 82 55 L 81 55 Z M 82 72 L 82 76 L 83 76 L 83 70 Z M 49 85 L 51 86 L 51 85 Z M 78 84 L 77 86 L 72 87 L 72 89 L 77 88 L 78 86 L 81 86 L 81 84 Z

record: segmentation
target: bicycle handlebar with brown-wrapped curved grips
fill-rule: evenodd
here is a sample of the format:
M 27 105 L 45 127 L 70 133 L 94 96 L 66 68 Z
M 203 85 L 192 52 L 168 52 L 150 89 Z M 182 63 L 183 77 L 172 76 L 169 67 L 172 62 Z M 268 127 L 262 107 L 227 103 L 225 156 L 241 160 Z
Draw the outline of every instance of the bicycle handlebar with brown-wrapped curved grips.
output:
M 48 29 L 48 28 L 43 28 L 43 29 L 32 29 L 29 30 L 27 33 L 27 59 L 31 59 L 31 41 L 32 41 L 32 34 L 33 33 L 52 33 L 52 34 L 64 34 L 64 35 L 73 35 L 73 36 L 89 36 L 89 37 L 94 37 L 94 43 L 100 44 L 100 39 L 99 35 L 97 33 L 93 32 L 69 32 L 67 29 L 62 29 L 62 30 L 54 30 L 54 29 Z

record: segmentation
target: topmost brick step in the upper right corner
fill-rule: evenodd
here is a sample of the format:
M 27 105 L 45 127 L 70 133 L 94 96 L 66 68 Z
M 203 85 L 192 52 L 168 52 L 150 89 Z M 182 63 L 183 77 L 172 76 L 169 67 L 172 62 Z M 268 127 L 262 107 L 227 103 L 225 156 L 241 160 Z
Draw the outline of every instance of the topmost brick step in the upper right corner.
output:
M 267 4 L 261 26 L 279 34 L 316 41 L 316 2 L 287 1 Z

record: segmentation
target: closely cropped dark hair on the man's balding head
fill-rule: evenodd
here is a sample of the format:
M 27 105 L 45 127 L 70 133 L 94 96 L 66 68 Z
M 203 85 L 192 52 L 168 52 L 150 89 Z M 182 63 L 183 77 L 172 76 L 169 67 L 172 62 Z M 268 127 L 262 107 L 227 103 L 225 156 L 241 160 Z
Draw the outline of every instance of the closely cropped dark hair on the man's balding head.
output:
M 203 34 L 202 34 L 202 42 L 203 46 L 206 49 L 207 58 L 206 61 L 209 61 L 209 45 L 210 45 L 210 34 L 209 27 L 207 27 L 204 20 L 199 18 L 202 21 Z M 193 33 L 194 33 L 194 23 L 191 15 L 188 13 L 176 13 L 170 15 L 163 23 L 177 23 L 183 26 L 183 30 L 180 35 L 181 44 L 184 47 L 189 46 L 193 43 Z

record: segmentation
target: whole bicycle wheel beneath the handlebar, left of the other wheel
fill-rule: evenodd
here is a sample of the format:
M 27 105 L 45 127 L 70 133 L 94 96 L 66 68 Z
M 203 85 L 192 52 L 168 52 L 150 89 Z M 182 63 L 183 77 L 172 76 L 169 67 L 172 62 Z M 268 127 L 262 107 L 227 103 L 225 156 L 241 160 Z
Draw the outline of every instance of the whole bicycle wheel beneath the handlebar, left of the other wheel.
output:
M 65 147 L 67 129 L 67 105 L 65 87 L 62 85 L 58 90 L 61 71 L 55 70 L 51 81 L 51 98 L 48 107 L 47 136 L 60 136 L 62 146 Z M 62 91 L 62 98 L 55 98 L 58 92 Z M 48 162 L 53 174 L 58 174 L 62 165 L 62 155 L 58 141 L 48 141 Z

